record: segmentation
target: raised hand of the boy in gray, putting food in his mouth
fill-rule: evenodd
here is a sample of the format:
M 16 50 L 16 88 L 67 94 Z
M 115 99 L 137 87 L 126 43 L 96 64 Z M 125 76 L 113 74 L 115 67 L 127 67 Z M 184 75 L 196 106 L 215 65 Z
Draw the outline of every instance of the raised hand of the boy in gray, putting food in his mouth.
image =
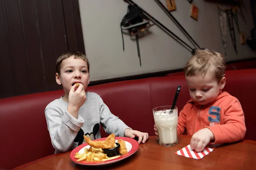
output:
M 84 91 L 84 86 L 79 83 L 79 87 L 76 87 L 76 84 L 74 84 L 69 92 L 68 96 L 68 105 L 67 105 L 67 111 L 72 116 L 74 116 L 76 119 L 78 117 L 78 111 L 79 108 L 84 104 L 86 100 L 86 95 Z

